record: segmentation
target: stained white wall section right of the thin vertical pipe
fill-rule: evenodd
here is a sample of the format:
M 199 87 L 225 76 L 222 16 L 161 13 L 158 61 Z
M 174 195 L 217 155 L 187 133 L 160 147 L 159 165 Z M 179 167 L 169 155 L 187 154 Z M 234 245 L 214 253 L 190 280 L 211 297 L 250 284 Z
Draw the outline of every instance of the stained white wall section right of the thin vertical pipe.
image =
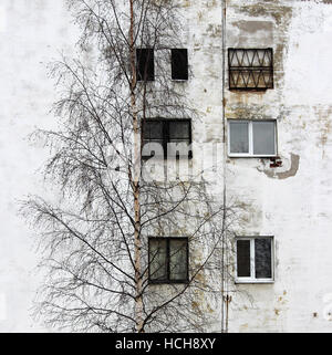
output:
M 331 332 L 331 49 L 328 1 L 227 1 L 227 46 L 274 52 L 274 90 L 227 93 L 227 118 L 277 118 L 278 154 L 229 158 L 230 195 L 249 203 L 241 236 L 274 236 L 276 281 L 239 290 L 232 332 Z

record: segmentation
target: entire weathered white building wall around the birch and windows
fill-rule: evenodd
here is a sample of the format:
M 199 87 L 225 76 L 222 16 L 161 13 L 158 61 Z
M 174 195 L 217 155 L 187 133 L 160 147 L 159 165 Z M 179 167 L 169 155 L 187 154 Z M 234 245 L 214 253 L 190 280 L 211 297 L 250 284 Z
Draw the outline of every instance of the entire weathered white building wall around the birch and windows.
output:
M 226 118 L 276 118 L 278 153 L 269 159 L 228 158 L 228 196 L 247 203 L 239 234 L 274 236 L 276 281 L 242 284 L 234 295 L 231 332 L 331 332 L 332 4 L 329 1 L 227 0 L 226 48 L 274 50 L 274 90 L 229 92 Z M 222 146 L 221 0 L 183 0 L 184 42 L 193 76 L 186 84 L 200 118 L 196 143 Z M 52 127 L 56 98 L 46 64 L 74 51 L 76 29 L 64 1 L 2 0 L 0 4 L 0 332 L 43 330 L 30 316 L 35 288 L 32 232 L 18 199 L 44 194 L 35 170 L 48 152 L 31 146 L 35 127 Z M 221 149 L 222 150 L 222 149 Z M 219 152 L 222 157 L 222 152 Z M 194 163 L 200 152 L 194 150 Z M 222 167 L 216 179 L 221 197 Z M 220 175 L 220 176 L 219 176 Z M 330 296 L 330 299 L 329 299 Z M 211 314 L 219 331 L 219 310 Z

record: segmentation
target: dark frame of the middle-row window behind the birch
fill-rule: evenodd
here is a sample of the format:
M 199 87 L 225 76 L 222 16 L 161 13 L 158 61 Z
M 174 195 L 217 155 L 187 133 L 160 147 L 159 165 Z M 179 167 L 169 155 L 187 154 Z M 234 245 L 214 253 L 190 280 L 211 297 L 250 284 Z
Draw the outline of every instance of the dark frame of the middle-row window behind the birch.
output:
M 174 123 L 174 122 L 188 122 L 189 123 L 189 146 L 190 149 L 188 152 L 188 159 L 193 158 L 193 126 L 191 126 L 191 118 L 162 118 L 162 117 L 157 117 L 157 118 L 145 118 L 144 122 L 159 122 L 163 125 L 163 149 L 164 149 L 164 157 L 157 157 L 157 158 L 164 158 L 164 160 L 166 160 L 168 158 L 167 154 L 167 144 L 170 143 L 170 136 L 169 136 L 169 123 Z M 142 134 L 142 149 L 144 147 L 144 128 L 141 128 L 141 134 Z M 152 157 L 156 157 L 156 156 L 146 156 L 142 154 L 142 158 L 143 159 L 149 159 Z M 184 156 L 176 156 L 176 159 L 183 159 L 186 158 Z

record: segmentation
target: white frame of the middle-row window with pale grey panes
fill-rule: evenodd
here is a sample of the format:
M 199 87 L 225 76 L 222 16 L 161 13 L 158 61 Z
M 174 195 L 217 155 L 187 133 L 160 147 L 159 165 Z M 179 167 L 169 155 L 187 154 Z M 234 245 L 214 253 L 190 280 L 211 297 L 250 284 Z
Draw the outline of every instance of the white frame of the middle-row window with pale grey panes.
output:
M 248 153 L 231 153 L 230 152 L 230 124 L 231 123 L 248 123 L 248 139 L 249 139 L 249 152 Z M 253 123 L 257 122 L 272 122 L 274 123 L 274 154 L 253 154 Z M 230 158 L 274 158 L 278 156 L 278 125 L 277 119 L 227 119 L 227 145 L 228 145 L 228 156 Z

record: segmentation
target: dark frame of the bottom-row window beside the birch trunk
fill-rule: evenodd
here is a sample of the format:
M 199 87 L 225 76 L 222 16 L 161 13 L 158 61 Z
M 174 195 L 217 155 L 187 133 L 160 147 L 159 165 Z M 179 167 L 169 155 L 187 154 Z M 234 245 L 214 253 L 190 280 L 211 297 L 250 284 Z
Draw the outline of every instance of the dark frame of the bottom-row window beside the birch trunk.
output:
M 155 240 L 166 240 L 166 270 L 167 270 L 167 278 L 165 280 L 152 280 L 151 279 L 151 242 Z M 186 279 L 185 280 L 170 280 L 170 248 L 169 243 L 170 240 L 186 240 L 186 249 L 187 249 L 187 255 L 186 255 Z M 149 284 L 187 284 L 189 282 L 189 238 L 188 237 L 148 237 L 148 250 L 147 250 L 147 257 L 148 257 L 148 283 Z

